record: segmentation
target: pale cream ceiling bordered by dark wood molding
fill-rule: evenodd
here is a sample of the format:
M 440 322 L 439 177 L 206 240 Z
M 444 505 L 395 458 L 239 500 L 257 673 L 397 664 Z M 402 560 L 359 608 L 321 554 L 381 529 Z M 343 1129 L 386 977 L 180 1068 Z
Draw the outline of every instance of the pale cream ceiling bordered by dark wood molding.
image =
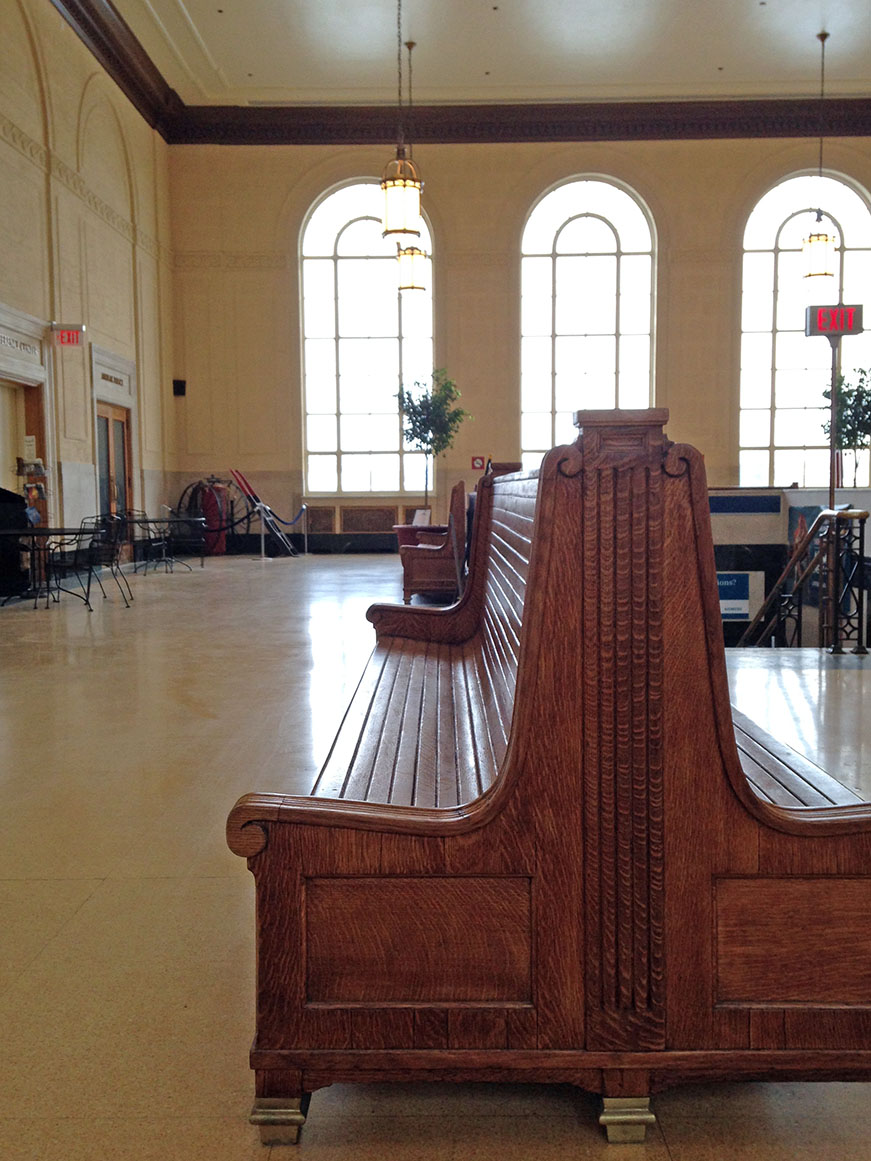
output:
M 396 102 L 394 0 L 113 2 L 186 106 Z M 808 99 L 823 28 L 870 96 L 871 0 L 404 0 L 402 39 L 416 104 Z

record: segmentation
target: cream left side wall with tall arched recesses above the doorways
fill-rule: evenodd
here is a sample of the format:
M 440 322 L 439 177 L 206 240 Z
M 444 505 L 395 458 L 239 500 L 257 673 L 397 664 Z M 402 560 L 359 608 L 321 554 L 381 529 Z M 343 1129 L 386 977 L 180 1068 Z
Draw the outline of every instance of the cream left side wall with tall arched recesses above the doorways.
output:
M 137 367 L 137 506 L 164 496 L 172 363 L 167 146 L 49 3 L 0 0 L 0 304 Z M 95 511 L 87 344 L 49 348 L 50 519 Z M 1 368 L 0 368 L 1 369 Z

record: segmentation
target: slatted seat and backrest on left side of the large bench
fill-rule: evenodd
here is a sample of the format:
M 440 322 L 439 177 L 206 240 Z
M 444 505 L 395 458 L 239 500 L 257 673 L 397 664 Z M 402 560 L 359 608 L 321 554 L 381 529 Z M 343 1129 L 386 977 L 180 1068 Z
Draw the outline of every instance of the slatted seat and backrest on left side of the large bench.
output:
M 380 640 L 312 795 L 455 807 L 491 785 L 511 729 L 537 490 L 508 484 L 492 510 L 469 641 Z

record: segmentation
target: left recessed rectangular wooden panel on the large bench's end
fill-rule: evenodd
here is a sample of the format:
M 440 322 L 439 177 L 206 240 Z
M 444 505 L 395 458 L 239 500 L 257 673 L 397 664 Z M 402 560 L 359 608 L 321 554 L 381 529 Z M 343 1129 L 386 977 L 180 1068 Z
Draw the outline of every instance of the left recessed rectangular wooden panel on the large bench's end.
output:
M 523 875 L 309 879 L 308 1003 L 528 1004 L 531 910 Z

